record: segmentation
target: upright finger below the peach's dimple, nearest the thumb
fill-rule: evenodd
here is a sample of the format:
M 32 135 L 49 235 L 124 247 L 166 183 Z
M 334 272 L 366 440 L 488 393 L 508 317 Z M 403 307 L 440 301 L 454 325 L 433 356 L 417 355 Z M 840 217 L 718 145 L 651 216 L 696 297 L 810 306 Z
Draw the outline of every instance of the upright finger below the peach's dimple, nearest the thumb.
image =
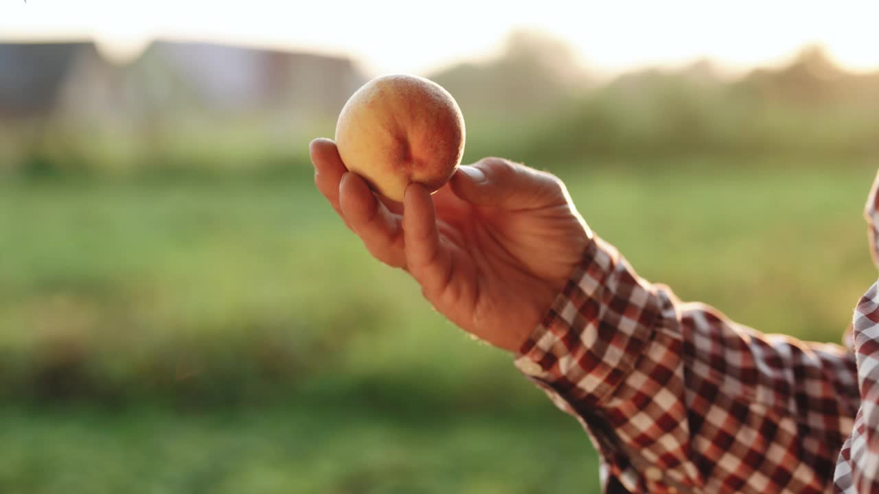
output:
M 431 297 L 447 287 L 451 279 L 452 253 L 439 241 L 433 200 L 423 185 L 410 184 L 403 205 L 406 265 Z

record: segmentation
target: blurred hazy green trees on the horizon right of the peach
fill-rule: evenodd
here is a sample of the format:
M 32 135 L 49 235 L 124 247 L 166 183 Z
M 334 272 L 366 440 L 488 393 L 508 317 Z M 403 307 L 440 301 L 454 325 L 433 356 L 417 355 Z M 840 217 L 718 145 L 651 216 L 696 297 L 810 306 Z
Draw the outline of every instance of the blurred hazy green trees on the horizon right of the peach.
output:
M 779 69 L 737 78 L 718 76 L 703 61 L 596 86 L 549 41 L 529 46 L 435 76 L 461 101 L 470 160 L 499 154 L 529 163 L 649 164 L 728 156 L 746 163 L 879 151 L 879 74 L 846 73 L 817 47 Z

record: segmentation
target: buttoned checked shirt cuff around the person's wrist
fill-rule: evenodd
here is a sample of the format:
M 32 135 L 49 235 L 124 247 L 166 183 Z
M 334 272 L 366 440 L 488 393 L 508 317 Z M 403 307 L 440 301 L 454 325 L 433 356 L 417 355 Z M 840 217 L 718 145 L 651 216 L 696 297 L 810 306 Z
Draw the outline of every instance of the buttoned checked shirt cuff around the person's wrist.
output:
M 515 365 L 566 401 L 597 404 L 631 373 L 660 315 L 656 289 L 595 237 Z

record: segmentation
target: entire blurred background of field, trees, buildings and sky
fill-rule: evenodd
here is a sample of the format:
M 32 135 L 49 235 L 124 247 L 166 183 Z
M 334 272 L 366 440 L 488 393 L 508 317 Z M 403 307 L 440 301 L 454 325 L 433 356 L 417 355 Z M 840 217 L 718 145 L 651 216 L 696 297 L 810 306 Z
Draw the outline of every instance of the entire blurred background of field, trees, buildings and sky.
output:
M 308 142 L 428 76 L 639 272 L 839 342 L 869 3 L 0 2 L 0 491 L 597 492 L 577 423 L 369 258 Z

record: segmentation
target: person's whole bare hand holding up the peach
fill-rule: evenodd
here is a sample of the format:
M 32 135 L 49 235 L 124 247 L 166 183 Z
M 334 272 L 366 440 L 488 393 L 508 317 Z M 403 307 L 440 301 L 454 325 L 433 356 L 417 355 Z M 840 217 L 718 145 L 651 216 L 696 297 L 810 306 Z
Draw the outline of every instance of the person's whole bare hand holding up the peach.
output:
M 516 352 L 578 265 L 592 233 L 558 178 L 500 158 L 462 165 L 403 205 L 345 169 L 336 144 L 310 145 L 315 182 L 375 258 L 402 268 L 463 330 Z

